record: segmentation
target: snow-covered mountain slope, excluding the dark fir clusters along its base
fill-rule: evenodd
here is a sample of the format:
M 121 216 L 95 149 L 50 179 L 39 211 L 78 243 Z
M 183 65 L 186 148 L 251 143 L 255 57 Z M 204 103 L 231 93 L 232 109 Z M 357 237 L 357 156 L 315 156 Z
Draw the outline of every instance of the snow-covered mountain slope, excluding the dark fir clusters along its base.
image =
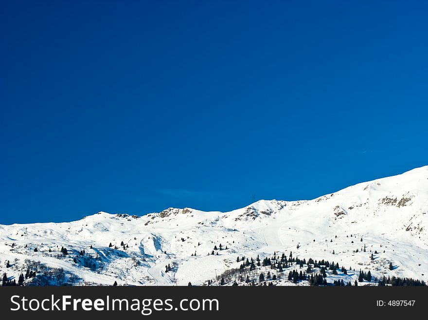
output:
M 230 212 L 168 208 L 142 217 L 99 212 L 69 223 L 0 225 L 0 272 L 18 281 L 21 272 L 36 270 L 51 284 L 216 284 L 216 275 L 240 267 L 237 257 L 291 251 L 349 270 L 329 274 L 327 282 L 354 283 L 360 269 L 428 281 L 427 213 L 425 166 L 314 200 L 261 200 Z M 264 270 L 258 269 L 257 279 Z M 275 284 L 292 283 L 285 276 Z

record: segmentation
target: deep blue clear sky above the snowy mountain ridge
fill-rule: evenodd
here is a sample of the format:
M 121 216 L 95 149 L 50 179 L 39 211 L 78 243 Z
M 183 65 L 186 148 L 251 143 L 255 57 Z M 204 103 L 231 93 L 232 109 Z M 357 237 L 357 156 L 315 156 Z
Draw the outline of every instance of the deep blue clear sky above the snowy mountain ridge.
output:
M 427 12 L 3 0 L 0 224 L 224 211 L 427 165 Z

